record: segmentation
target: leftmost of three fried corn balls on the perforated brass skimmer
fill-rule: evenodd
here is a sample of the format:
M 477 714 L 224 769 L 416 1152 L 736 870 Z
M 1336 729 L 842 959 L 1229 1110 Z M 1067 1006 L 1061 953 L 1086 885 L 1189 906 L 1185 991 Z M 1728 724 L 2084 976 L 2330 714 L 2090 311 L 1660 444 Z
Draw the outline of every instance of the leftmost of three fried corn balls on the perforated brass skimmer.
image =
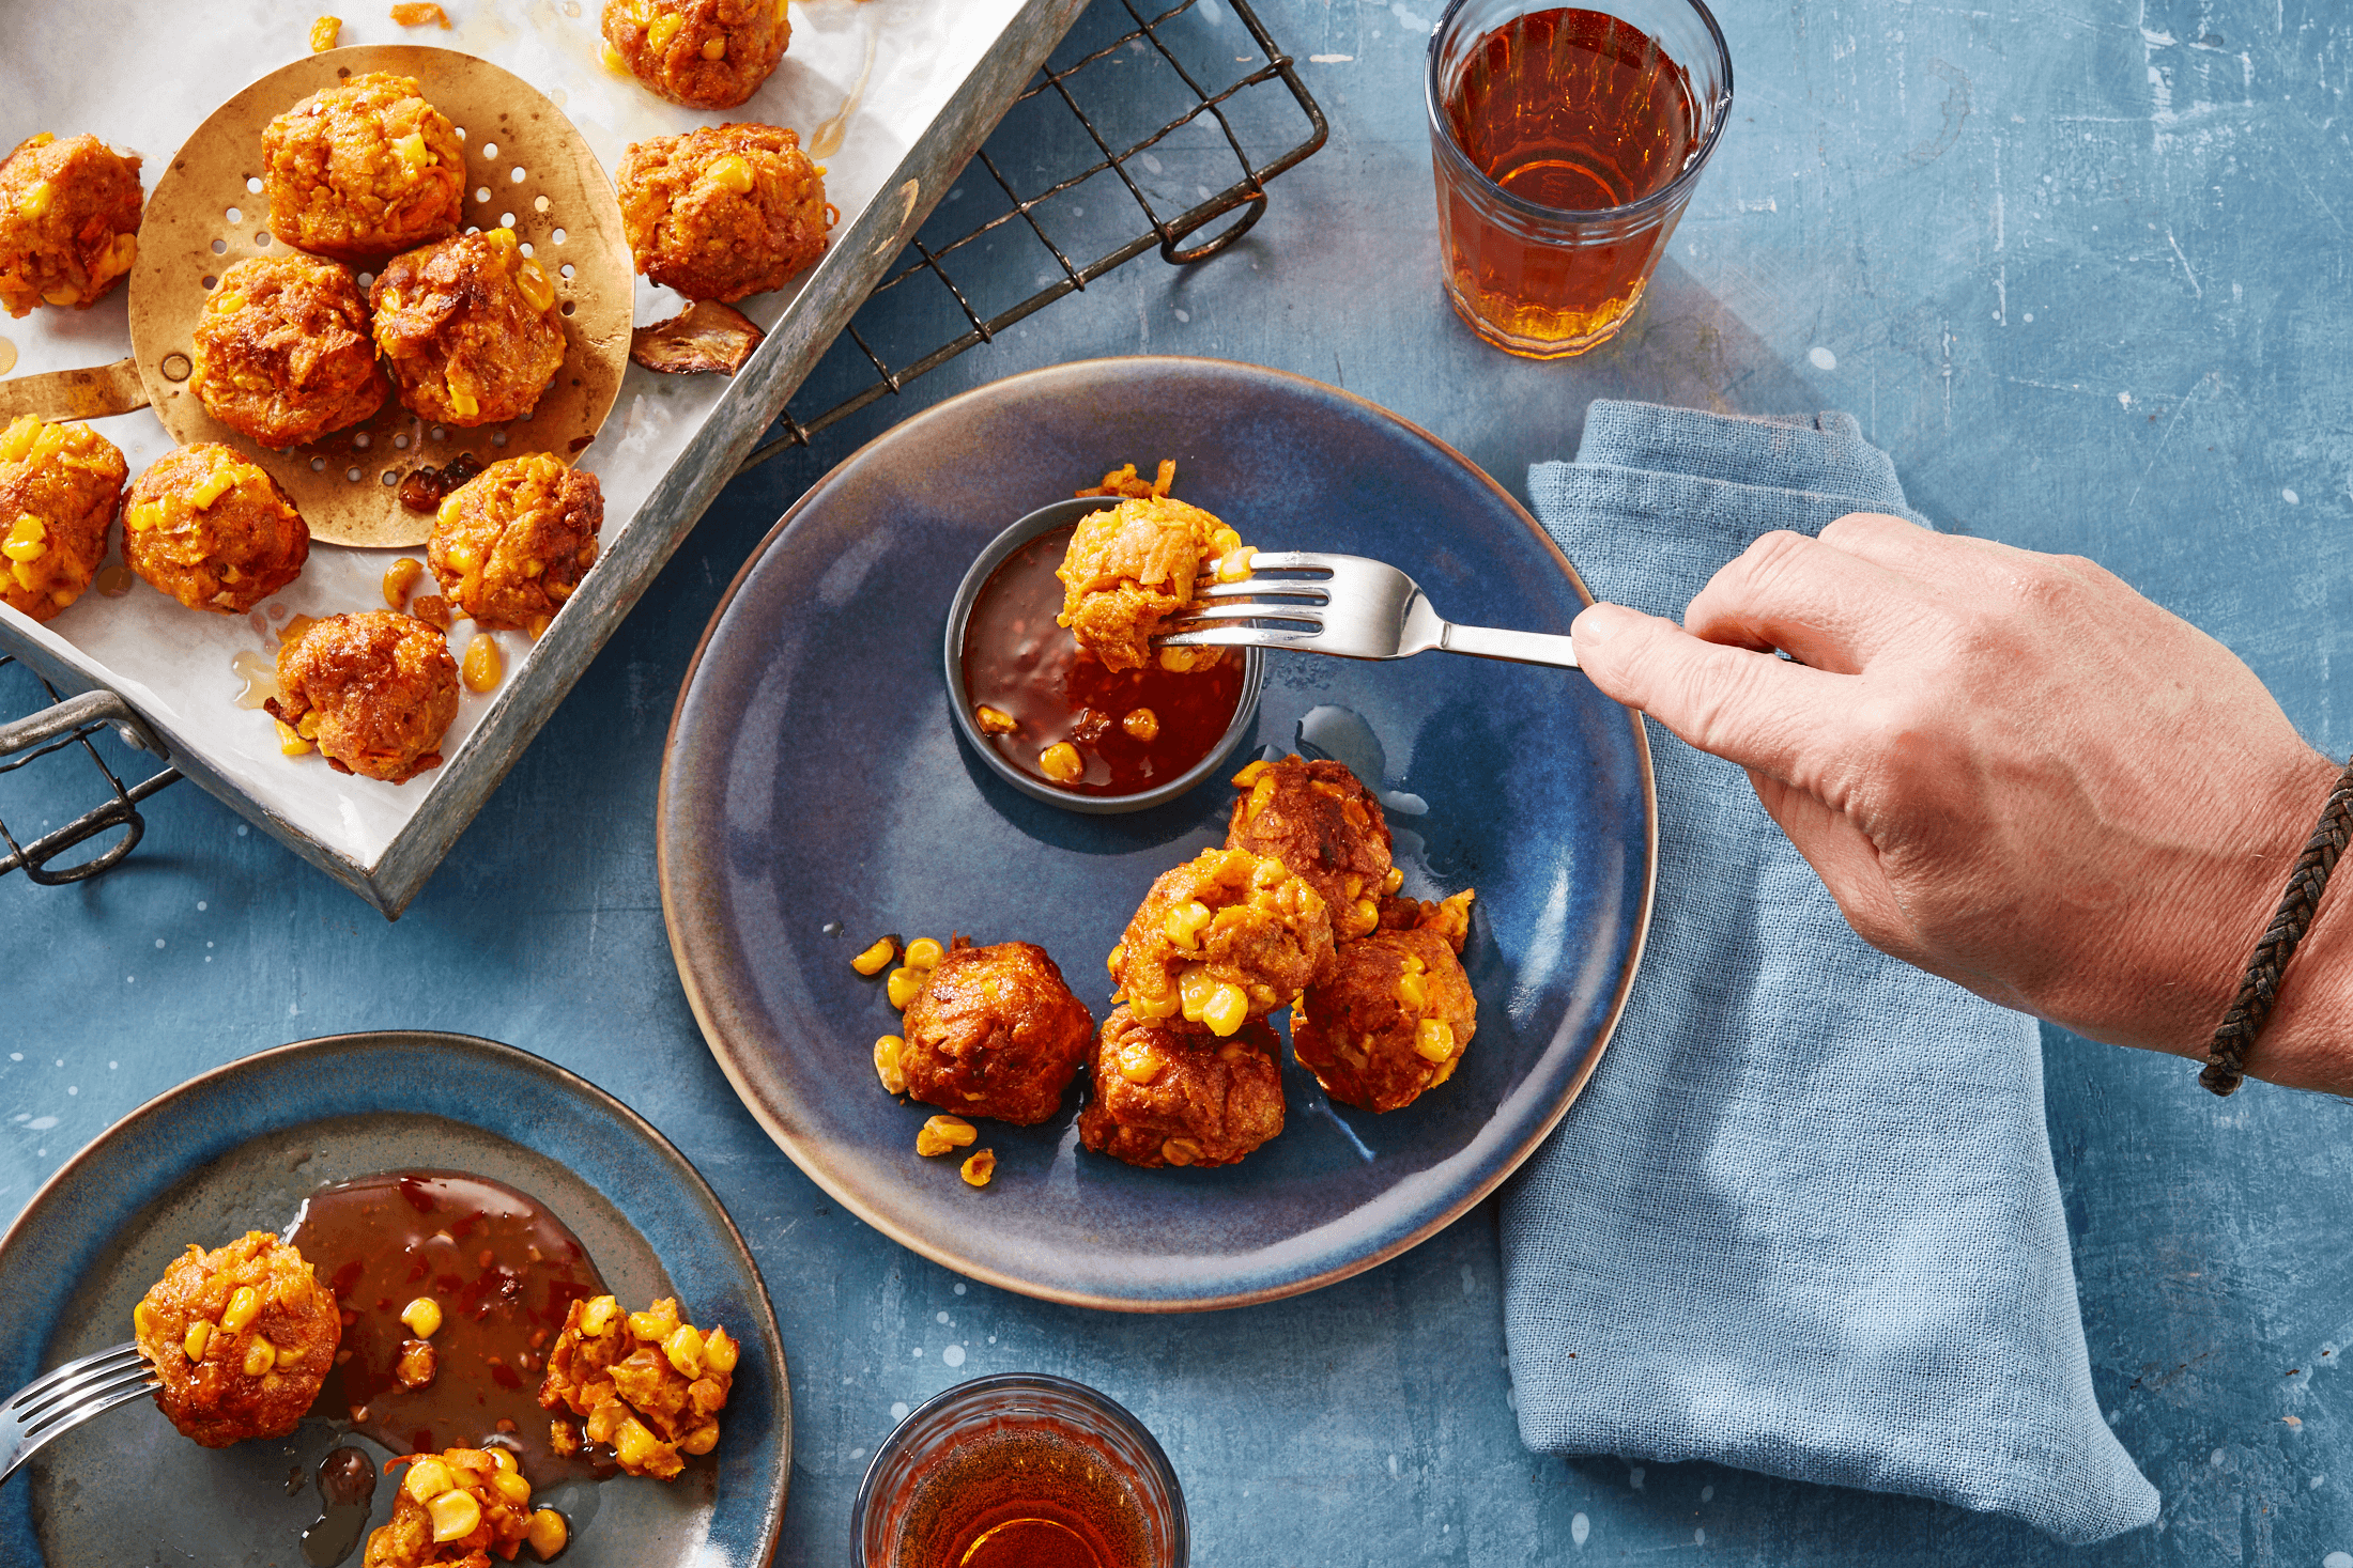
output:
M 249 256 L 221 273 L 191 360 L 205 411 L 273 451 L 360 423 L 391 390 L 360 284 L 315 256 Z

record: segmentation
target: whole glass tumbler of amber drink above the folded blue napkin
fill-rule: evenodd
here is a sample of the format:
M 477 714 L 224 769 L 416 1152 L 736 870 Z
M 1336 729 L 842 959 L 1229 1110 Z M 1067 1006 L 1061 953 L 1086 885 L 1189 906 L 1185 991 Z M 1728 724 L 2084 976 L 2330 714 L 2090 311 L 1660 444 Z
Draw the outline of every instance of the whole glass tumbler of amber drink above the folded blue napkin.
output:
M 1431 35 L 1447 299 L 1532 360 L 1626 324 L 1732 110 L 1699 0 L 1454 0 Z

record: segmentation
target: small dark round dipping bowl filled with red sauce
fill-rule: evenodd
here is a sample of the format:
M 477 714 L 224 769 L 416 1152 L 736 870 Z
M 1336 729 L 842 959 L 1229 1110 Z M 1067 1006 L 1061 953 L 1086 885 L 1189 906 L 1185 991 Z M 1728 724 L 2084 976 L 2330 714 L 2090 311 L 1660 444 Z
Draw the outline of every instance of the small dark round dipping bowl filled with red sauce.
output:
M 1195 675 L 1169 675 L 1158 668 L 1108 675 L 1089 661 L 1092 675 L 1085 668 L 1071 675 L 1080 691 L 1089 682 L 1101 684 L 1099 696 L 1106 698 L 1106 708 L 1094 708 L 1099 736 L 1075 738 L 1087 759 L 1087 776 L 1066 788 L 1038 769 L 1038 755 L 1047 745 L 1073 738 L 1071 722 L 1078 717 L 1071 712 L 1064 677 L 1071 670 L 1066 654 L 1078 644 L 1071 642 L 1071 632 L 1054 625 L 1054 614 L 1061 609 L 1054 567 L 1061 564 L 1064 543 L 1078 520 L 1111 505 L 1118 503 L 1099 496 L 1056 501 L 998 534 L 958 585 L 946 637 L 948 712 L 955 715 L 955 733 L 965 745 L 1024 795 L 1089 816 L 1160 806 L 1217 773 L 1235 743 L 1249 733 L 1259 710 L 1259 686 L 1266 679 L 1264 649 L 1235 649 L 1240 661 L 1228 656 Z M 1059 538 L 1047 538 L 1054 534 Z M 1000 567 L 1009 569 L 1000 574 Z M 1012 628 L 1014 621 L 1021 630 Z M 995 646 L 976 642 L 967 661 L 967 628 L 991 637 Z M 988 689 L 995 684 L 984 675 L 991 668 L 1005 682 L 1021 686 L 1021 703 L 1014 710 L 1021 729 L 1012 736 L 984 736 L 972 712 L 976 703 L 1005 708 L 1012 701 Z M 1160 733 L 1148 748 L 1120 729 L 1134 703 L 1148 705 L 1160 717 Z M 1167 773 L 1165 766 L 1181 771 Z

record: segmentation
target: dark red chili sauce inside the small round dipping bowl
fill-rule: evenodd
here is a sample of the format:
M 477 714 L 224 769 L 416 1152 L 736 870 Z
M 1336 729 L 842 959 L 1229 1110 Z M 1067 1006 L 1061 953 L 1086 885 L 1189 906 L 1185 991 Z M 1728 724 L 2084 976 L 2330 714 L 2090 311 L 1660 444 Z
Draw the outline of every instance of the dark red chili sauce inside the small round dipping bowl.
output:
M 1075 529 L 1064 524 L 1040 534 L 988 574 L 965 621 L 965 696 L 974 708 L 995 708 L 1014 719 L 1012 733 L 986 741 L 1031 778 L 1073 795 L 1136 795 L 1176 778 L 1226 736 L 1242 698 L 1242 658 L 1228 654 L 1193 675 L 1172 675 L 1158 663 L 1106 670 L 1066 628 L 1054 625 L 1061 614 L 1054 567 Z M 1158 719 L 1151 741 L 1125 726 L 1139 708 Z M 1038 766 L 1038 755 L 1061 741 L 1078 748 L 1087 769 L 1075 783 L 1049 778 Z

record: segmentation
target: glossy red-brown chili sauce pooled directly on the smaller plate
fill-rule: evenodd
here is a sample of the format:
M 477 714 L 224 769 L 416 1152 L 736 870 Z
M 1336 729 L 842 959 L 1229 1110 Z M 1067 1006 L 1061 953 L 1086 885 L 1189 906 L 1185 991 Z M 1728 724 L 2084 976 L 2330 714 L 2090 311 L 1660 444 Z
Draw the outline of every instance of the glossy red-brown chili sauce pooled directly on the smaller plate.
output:
M 289 1241 L 344 1312 L 320 1413 L 393 1453 L 506 1446 L 534 1490 L 595 1474 L 548 1450 L 539 1382 L 565 1312 L 605 1281 L 539 1199 L 482 1175 L 391 1171 L 313 1192 Z M 393 1368 L 419 1295 L 442 1321 L 433 1380 L 412 1389 Z

